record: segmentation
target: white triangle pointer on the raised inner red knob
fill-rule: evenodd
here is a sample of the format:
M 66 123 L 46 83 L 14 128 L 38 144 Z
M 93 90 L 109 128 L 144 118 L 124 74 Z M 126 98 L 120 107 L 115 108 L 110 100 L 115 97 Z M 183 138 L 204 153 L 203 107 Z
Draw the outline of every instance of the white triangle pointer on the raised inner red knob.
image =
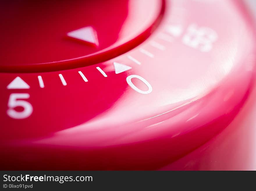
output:
M 71 31 L 71 32 L 67 33 L 67 35 L 72 38 L 90 42 L 92 44 L 99 46 L 97 33 L 91 26 L 79 28 L 75 31 Z

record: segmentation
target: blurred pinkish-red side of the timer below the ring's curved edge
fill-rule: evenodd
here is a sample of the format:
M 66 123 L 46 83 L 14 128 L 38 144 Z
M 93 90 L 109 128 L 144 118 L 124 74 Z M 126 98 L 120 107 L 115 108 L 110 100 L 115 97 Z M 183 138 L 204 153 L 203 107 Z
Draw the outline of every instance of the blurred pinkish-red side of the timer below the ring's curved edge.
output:
M 160 170 L 256 170 L 255 80 L 252 90 L 227 128 Z

